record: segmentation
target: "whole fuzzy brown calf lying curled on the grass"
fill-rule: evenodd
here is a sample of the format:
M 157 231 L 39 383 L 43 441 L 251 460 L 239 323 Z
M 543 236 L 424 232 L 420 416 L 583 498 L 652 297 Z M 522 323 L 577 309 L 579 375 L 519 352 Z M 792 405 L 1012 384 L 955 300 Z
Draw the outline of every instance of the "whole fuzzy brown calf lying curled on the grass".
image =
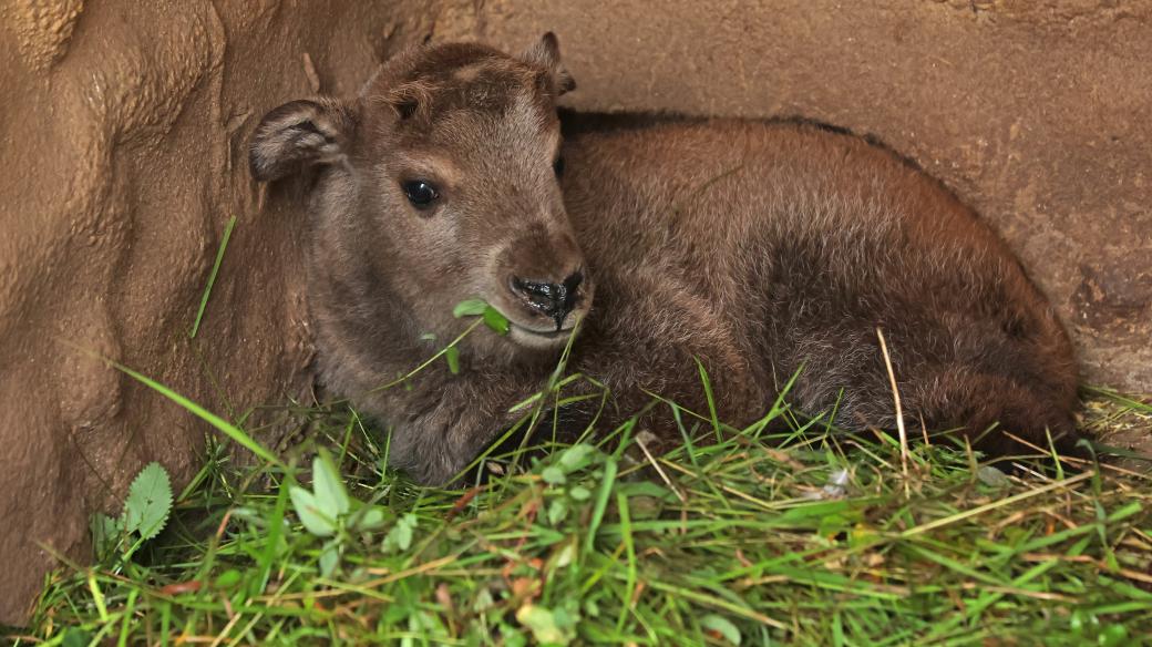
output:
M 573 86 L 552 35 L 518 58 L 426 46 L 355 99 L 293 101 L 256 130 L 256 180 L 309 178 L 321 376 L 394 427 L 396 466 L 449 480 L 521 414 L 581 319 L 569 370 L 626 416 L 644 390 L 706 412 L 698 358 L 721 419 L 753 420 L 802 370 L 801 410 L 894 428 L 880 328 L 917 429 L 964 427 L 993 451 L 1011 447 L 985 434 L 996 423 L 1075 441 L 1067 335 L 939 183 L 797 122 L 566 115 L 561 137 L 555 100 Z M 454 338 L 470 297 L 510 334 L 467 337 L 460 374 L 437 363 L 373 391 Z M 582 429 L 578 413 L 563 419 Z

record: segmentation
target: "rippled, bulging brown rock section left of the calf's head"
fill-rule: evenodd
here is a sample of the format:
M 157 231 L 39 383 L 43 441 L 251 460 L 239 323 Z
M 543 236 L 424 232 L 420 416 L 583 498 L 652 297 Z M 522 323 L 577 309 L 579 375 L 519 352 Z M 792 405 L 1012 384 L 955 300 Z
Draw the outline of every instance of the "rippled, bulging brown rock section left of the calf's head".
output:
M 93 355 L 234 416 L 306 385 L 303 222 L 260 208 L 245 140 L 430 31 L 395 9 L 0 0 L 0 623 L 55 565 L 41 543 L 86 558 L 90 513 L 146 462 L 181 484 L 203 459 L 204 425 Z

